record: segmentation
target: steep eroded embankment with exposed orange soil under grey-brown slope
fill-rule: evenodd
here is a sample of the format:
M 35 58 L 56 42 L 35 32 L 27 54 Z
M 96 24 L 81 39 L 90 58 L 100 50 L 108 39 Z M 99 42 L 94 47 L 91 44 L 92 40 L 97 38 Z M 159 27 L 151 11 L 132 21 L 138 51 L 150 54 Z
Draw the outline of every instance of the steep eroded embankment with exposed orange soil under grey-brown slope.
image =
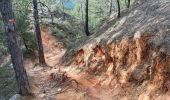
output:
M 63 61 L 104 76 L 101 87 L 111 87 L 114 80 L 120 87 L 114 100 L 162 100 L 170 91 L 170 1 L 145 0 L 128 12 L 102 34 L 67 51 Z

